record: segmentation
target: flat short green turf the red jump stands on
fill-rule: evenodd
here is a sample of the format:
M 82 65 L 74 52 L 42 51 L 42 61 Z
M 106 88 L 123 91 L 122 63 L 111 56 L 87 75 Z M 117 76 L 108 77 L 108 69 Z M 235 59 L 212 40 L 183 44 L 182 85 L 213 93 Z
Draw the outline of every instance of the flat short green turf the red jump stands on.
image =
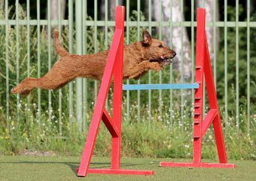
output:
M 184 161 L 184 159 L 123 158 L 123 169 L 154 170 L 153 176 L 145 175 L 99 175 L 89 174 L 87 180 L 254 180 L 255 161 L 230 161 L 235 169 L 189 169 L 162 168 L 160 161 Z M 74 180 L 78 178 L 75 168 L 80 157 L 2 156 L 0 158 L 1 180 Z M 94 157 L 91 167 L 109 167 L 110 159 Z

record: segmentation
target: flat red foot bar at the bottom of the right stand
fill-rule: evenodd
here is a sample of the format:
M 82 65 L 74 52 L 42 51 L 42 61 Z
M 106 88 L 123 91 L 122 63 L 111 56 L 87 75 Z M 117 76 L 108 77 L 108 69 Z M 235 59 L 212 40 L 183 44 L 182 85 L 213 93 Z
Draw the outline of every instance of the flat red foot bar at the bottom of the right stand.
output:
M 222 168 L 234 169 L 235 164 L 219 163 L 186 163 L 186 162 L 160 162 L 160 167 L 197 167 L 197 168 Z

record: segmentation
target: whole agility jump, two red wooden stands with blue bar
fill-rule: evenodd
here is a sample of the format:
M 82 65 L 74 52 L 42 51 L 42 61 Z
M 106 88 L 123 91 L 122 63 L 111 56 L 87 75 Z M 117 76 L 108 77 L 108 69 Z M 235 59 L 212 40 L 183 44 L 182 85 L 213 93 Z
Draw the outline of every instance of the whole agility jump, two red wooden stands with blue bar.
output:
M 153 170 L 126 170 L 120 169 L 121 158 L 121 107 L 122 90 L 149 90 L 149 89 L 195 89 L 194 97 L 194 140 L 193 162 L 161 162 L 163 167 L 219 167 L 234 168 L 234 164 L 227 164 L 222 126 L 220 123 L 219 107 L 217 104 L 216 90 L 212 77 L 211 60 L 207 46 L 205 25 L 205 9 L 197 9 L 197 36 L 196 36 L 196 82 L 192 84 L 136 84 L 123 86 L 123 37 L 124 37 L 125 7 L 116 7 L 116 29 L 108 55 L 102 84 L 98 92 L 97 102 L 92 116 L 92 122 L 87 135 L 87 141 L 83 150 L 80 167 L 77 169 L 79 177 L 87 174 L 130 174 L 130 175 L 153 175 Z M 111 118 L 105 109 L 105 103 L 113 77 L 113 117 Z M 206 80 L 207 95 L 210 110 L 203 120 L 203 83 Z M 112 136 L 112 156 L 110 169 L 90 169 L 93 149 L 100 121 L 103 121 Z M 219 163 L 201 162 L 202 138 L 209 126 L 213 123 L 216 138 Z

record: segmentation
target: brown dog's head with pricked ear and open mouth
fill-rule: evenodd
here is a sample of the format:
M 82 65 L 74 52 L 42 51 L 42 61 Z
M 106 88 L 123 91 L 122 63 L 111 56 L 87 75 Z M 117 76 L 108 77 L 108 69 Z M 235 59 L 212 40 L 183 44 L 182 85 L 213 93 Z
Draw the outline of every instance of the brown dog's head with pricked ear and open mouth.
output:
M 145 47 L 149 56 L 149 61 L 156 61 L 159 64 L 166 65 L 172 63 L 171 59 L 176 56 L 176 52 L 171 50 L 163 41 L 151 38 L 151 35 L 143 31 L 142 45 Z

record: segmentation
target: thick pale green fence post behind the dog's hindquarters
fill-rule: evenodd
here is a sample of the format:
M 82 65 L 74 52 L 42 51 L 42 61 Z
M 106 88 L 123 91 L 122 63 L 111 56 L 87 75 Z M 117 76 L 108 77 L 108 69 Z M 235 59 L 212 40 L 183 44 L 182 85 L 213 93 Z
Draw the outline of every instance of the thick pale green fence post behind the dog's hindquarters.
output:
M 82 0 L 75 1 L 75 46 L 78 55 L 82 54 Z M 75 115 L 79 131 L 82 131 L 82 78 L 75 81 Z

